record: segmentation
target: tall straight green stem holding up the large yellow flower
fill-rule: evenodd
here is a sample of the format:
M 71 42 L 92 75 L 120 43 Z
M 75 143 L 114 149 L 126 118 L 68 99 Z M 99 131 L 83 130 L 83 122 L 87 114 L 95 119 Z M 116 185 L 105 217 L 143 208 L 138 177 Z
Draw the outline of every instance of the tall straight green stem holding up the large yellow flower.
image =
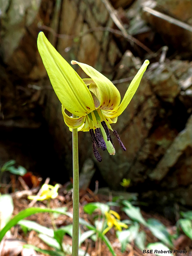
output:
M 73 117 L 76 117 L 73 115 Z M 73 139 L 73 241 L 72 256 L 79 252 L 79 161 L 77 129 L 72 131 Z

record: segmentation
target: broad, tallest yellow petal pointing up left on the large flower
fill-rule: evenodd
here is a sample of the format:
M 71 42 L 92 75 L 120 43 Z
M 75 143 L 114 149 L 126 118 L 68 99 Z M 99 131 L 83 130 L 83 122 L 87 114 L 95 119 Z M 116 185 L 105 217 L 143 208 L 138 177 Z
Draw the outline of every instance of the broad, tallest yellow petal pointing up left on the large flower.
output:
M 89 89 L 43 32 L 38 35 L 38 50 L 51 84 L 64 108 L 77 116 L 85 116 L 95 110 Z

